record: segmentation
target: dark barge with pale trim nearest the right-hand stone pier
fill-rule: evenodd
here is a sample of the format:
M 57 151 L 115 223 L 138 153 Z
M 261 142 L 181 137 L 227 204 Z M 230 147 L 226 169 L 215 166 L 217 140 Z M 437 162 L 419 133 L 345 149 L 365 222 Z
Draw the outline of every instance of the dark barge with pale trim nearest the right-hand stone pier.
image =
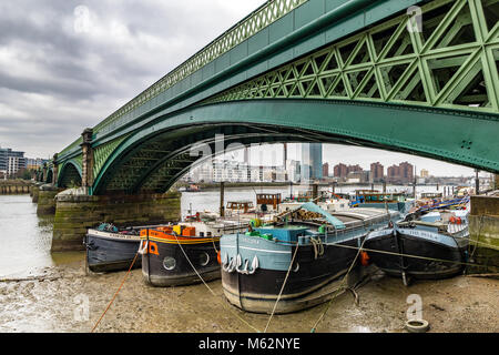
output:
M 445 278 L 462 273 L 469 244 L 468 211 L 432 211 L 371 232 L 365 241 L 370 261 L 388 275 Z

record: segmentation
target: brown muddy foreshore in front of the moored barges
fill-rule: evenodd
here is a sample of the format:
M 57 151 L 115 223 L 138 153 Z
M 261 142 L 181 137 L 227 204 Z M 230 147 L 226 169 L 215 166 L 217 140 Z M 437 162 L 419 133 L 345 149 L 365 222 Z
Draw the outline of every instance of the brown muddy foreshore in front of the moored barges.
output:
M 90 332 L 120 286 L 125 272 L 85 275 L 82 257 L 45 268 L 27 281 L 0 281 L 0 332 Z M 233 333 L 263 331 L 268 315 L 242 312 L 223 296 L 221 281 L 156 288 L 129 275 L 96 332 Z M 422 298 L 429 332 L 499 332 L 499 281 L 458 276 L 417 281 L 409 287 L 376 273 L 358 290 L 359 304 L 342 294 L 317 332 L 406 332 L 407 296 Z M 308 333 L 327 304 L 275 315 L 267 332 Z M 249 327 L 249 324 L 252 327 Z

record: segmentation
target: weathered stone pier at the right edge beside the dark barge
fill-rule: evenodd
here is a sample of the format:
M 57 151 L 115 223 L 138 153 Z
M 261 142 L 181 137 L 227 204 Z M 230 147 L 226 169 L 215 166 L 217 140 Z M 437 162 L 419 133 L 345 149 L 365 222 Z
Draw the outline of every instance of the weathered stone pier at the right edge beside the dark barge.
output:
M 499 273 L 499 196 L 471 196 L 469 274 Z

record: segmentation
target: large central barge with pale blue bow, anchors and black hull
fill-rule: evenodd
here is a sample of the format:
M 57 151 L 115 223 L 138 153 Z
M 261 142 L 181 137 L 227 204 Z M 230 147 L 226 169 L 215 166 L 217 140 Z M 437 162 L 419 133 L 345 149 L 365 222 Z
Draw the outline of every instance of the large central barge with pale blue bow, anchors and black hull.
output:
M 326 302 L 367 233 L 399 217 L 378 209 L 330 214 L 314 203 L 301 210 L 313 217 L 304 221 L 291 213 L 284 223 L 221 239 L 222 285 L 230 303 L 271 313 L 279 300 L 275 313 L 289 313 Z

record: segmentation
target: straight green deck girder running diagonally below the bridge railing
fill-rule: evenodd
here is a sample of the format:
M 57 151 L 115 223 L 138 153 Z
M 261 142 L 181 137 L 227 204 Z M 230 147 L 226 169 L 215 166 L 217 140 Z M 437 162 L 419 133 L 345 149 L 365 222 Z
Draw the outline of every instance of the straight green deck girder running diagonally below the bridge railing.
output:
M 337 38 L 336 33 L 347 36 L 363 27 L 370 26 L 373 21 L 404 10 L 405 7 L 417 1 L 336 0 L 329 2 L 327 0 L 308 0 L 304 6 L 293 9 L 265 28 L 265 31 L 261 30 L 256 36 L 248 38 L 227 53 L 216 58 L 155 99 L 146 101 L 113 120 L 109 120 L 109 124 L 95 126 L 95 144 L 102 144 L 125 132 L 133 131 L 133 126 L 136 125 L 134 123 L 147 121 L 155 111 L 163 110 L 165 106 L 170 108 L 170 112 L 174 112 L 231 87 L 234 80 L 241 81 L 247 77 L 253 77 L 264 69 L 266 70 L 267 65 L 279 65 L 284 63 L 283 59 L 287 57 L 287 54 L 283 57 L 279 52 L 287 53 L 292 50 L 292 57 L 294 58 L 304 51 L 310 51 L 317 45 L 324 44 L 323 42 L 314 42 L 310 47 L 310 43 L 306 40 L 308 36 L 320 36 L 322 41 Z M 355 13 L 358 14 L 354 16 Z M 306 19 L 306 21 L 303 19 Z M 352 19 L 355 21 L 353 22 Z M 265 37 L 268 37 L 266 42 L 262 40 Z M 252 50 L 255 45 L 256 48 Z M 225 55 L 228 55 L 228 62 L 223 59 Z M 261 64 L 265 65 L 262 67 Z M 72 154 L 78 154 L 81 142 L 81 138 L 79 138 L 60 153 L 60 158 L 71 158 Z

